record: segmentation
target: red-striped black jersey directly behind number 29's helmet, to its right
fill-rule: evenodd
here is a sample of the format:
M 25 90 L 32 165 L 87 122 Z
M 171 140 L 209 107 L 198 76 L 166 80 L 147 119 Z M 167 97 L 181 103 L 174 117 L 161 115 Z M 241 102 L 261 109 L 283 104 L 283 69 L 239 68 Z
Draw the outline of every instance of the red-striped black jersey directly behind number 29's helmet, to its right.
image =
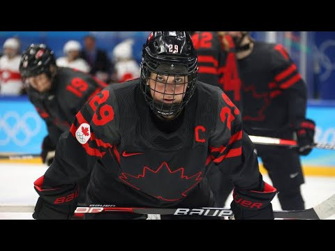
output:
M 198 79 L 206 84 L 219 86 L 241 110 L 241 79 L 234 54 L 234 42 L 225 36 L 226 49 L 217 32 L 194 33 L 192 41 L 198 51 Z

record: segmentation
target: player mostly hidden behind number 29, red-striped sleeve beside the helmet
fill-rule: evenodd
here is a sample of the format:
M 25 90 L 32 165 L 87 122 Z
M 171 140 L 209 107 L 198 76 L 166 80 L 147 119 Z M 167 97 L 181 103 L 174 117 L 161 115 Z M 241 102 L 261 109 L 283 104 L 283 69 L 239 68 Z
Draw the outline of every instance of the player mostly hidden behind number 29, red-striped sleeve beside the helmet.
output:
M 241 79 L 234 54 L 234 42 L 225 31 L 197 31 L 192 35 L 198 51 L 198 80 L 220 87 L 234 105 L 243 112 L 241 105 Z M 207 174 L 216 204 L 225 206 L 234 188 L 228 174 L 221 175 L 211 168 Z M 230 184 L 230 187 L 228 185 Z

